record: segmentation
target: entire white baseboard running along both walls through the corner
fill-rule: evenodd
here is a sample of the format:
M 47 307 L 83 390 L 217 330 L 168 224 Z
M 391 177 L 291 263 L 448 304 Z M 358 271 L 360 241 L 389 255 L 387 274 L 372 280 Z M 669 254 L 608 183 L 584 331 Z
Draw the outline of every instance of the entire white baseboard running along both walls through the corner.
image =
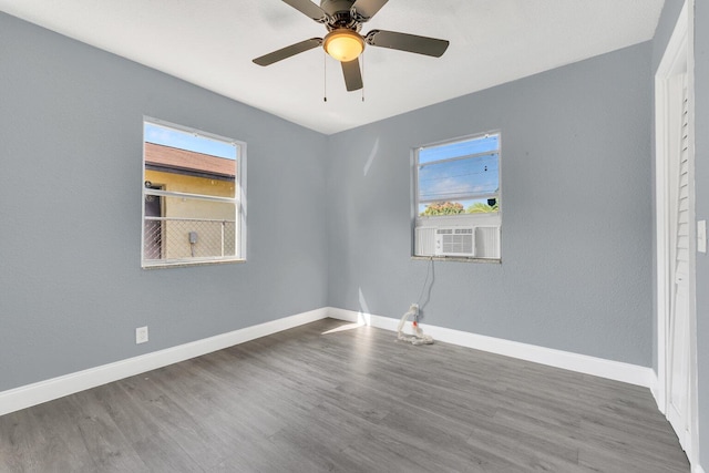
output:
M 172 363 L 210 353 L 213 351 L 222 350 L 235 345 L 244 343 L 249 340 L 320 320 L 326 317 L 368 325 L 391 331 L 395 331 L 399 325 L 398 319 L 389 317 L 361 313 L 332 307 L 316 309 L 0 392 L 0 415 Z M 655 389 L 657 388 L 657 378 L 650 368 L 424 323 L 421 325 L 421 328 L 435 340 L 446 343 L 459 345 L 551 367 L 643 385 L 649 388 L 653 392 L 655 392 Z M 699 470 L 697 470 L 696 473 L 705 473 L 700 466 L 698 469 Z

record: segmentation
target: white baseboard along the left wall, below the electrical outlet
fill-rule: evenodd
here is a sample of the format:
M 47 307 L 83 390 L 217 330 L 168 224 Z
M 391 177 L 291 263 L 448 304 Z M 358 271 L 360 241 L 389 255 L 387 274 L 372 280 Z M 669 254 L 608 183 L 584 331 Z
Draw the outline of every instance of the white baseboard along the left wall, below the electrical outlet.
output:
M 0 392 L 0 415 L 328 317 L 316 309 Z

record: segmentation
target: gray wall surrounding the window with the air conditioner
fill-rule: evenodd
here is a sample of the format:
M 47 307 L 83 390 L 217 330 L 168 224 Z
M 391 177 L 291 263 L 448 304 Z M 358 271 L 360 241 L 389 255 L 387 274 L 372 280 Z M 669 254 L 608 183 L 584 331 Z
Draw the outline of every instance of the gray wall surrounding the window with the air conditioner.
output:
M 651 366 L 651 52 L 332 135 L 330 306 L 399 318 L 419 299 L 429 263 L 410 258 L 410 150 L 500 130 L 503 263 L 435 263 L 423 321 Z

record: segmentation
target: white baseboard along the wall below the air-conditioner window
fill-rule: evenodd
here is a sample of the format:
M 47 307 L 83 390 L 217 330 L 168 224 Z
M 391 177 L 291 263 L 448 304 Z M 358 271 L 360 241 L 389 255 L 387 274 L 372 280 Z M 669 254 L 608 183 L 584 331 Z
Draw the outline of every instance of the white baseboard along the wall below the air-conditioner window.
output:
M 332 307 L 328 309 L 328 316 L 333 319 L 359 322 L 384 330 L 395 331 L 399 327 L 399 319 Z M 641 385 L 649 388 L 650 390 L 657 387 L 655 371 L 651 368 L 605 360 L 603 358 L 588 357 L 569 351 L 555 350 L 552 348 L 537 347 L 534 345 L 520 343 L 516 341 L 486 337 L 460 330 L 452 330 L 443 327 L 429 326 L 425 323 L 421 323 L 421 329 L 424 333 L 433 337 L 434 340 L 440 340 L 446 343 L 533 361 L 535 363 L 621 381 L 629 384 Z

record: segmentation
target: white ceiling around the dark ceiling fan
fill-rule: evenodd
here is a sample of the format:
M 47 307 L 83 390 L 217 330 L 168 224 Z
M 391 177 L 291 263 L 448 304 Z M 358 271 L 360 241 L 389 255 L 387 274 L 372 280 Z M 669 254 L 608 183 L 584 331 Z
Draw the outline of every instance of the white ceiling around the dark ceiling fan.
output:
M 451 45 L 440 59 L 368 48 L 364 102 L 321 49 L 251 62 L 326 33 L 280 0 L 0 0 L 0 10 L 331 134 L 647 41 L 664 1 L 390 0 L 362 33 Z

